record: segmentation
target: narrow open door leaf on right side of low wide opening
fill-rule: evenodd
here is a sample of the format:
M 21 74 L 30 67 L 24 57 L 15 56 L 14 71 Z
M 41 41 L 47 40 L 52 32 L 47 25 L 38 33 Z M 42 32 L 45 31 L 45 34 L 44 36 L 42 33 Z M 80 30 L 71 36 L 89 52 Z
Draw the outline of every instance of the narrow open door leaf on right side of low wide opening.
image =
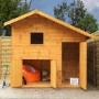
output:
M 51 61 L 51 86 L 56 88 L 56 61 Z

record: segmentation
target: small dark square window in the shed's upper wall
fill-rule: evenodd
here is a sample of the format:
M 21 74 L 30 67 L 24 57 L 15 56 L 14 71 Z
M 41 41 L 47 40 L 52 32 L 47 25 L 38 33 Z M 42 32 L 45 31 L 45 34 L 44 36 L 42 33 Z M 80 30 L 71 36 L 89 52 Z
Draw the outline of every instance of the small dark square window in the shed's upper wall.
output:
M 31 33 L 31 44 L 43 44 L 43 33 Z

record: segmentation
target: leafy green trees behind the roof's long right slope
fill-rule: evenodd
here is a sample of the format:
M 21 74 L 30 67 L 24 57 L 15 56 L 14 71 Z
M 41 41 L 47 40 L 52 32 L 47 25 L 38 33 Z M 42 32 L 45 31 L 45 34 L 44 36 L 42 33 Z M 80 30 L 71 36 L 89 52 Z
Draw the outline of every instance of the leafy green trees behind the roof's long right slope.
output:
M 94 18 L 92 14 L 87 12 L 87 9 L 85 9 L 82 1 L 74 0 L 69 4 L 67 4 L 66 2 L 63 3 L 54 8 L 55 18 L 58 18 L 58 18 L 59 20 L 68 22 L 72 25 L 89 33 L 92 33 L 98 30 L 97 20 Z M 66 8 L 66 9 L 62 9 L 62 8 Z

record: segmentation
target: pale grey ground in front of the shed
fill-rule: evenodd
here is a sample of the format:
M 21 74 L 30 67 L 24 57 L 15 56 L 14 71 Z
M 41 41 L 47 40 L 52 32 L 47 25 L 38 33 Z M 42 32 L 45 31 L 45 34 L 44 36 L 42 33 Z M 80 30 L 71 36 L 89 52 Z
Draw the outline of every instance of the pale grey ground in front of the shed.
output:
M 2 88 L 0 85 L 0 99 L 99 99 L 99 90 L 89 88 Z

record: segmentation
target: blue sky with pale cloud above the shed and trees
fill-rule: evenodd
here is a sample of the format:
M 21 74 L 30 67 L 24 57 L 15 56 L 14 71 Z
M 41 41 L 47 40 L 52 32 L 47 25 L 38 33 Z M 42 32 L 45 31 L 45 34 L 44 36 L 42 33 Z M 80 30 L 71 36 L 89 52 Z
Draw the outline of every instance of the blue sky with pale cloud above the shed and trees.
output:
M 69 2 L 73 0 L 32 0 L 31 10 L 37 9 L 42 12 L 45 12 L 54 16 L 53 12 L 54 7 L 61 4 L 63 1 Z M 87 8 L 88 12 L 94 14 L 95 19 L 97 19 L 99 24 L 99 0 L 81 0 L 81 1 L 84 2 L 85 8 Z

